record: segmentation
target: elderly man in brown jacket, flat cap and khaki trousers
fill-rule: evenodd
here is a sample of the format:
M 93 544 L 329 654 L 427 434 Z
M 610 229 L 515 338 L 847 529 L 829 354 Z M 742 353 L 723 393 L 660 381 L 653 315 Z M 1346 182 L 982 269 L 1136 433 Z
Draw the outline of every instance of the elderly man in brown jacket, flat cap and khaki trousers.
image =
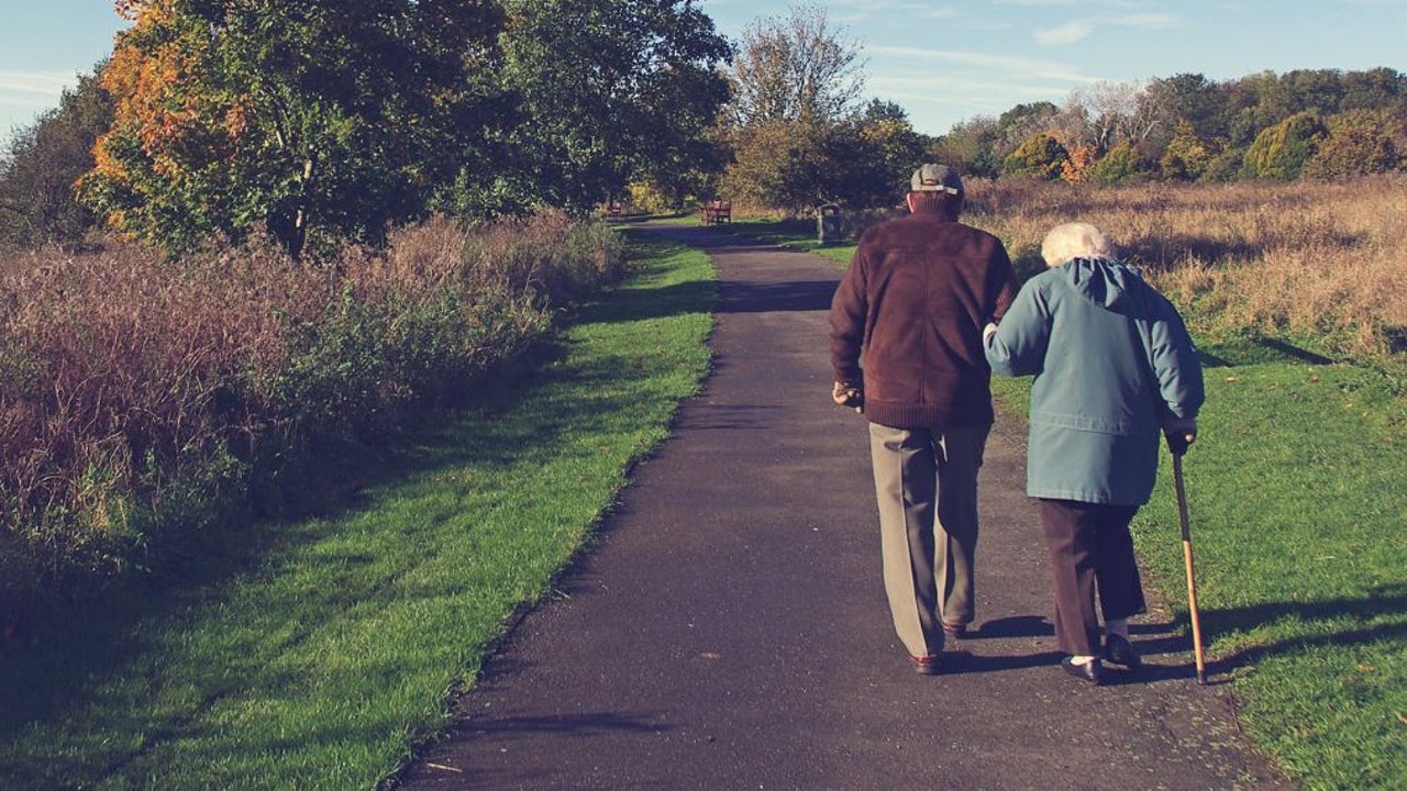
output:
M 860 238 L 832 300 L 832 398 L 870 421 L 889 611 L 915 669 L 934 674 L 946 636 L 975 616 L 976 476 L 993 417 L 982 327 L 1006 312 L 1016 279 L 996 236 L 958 222 L 955 170 L 919 167 L 908 203 Z

